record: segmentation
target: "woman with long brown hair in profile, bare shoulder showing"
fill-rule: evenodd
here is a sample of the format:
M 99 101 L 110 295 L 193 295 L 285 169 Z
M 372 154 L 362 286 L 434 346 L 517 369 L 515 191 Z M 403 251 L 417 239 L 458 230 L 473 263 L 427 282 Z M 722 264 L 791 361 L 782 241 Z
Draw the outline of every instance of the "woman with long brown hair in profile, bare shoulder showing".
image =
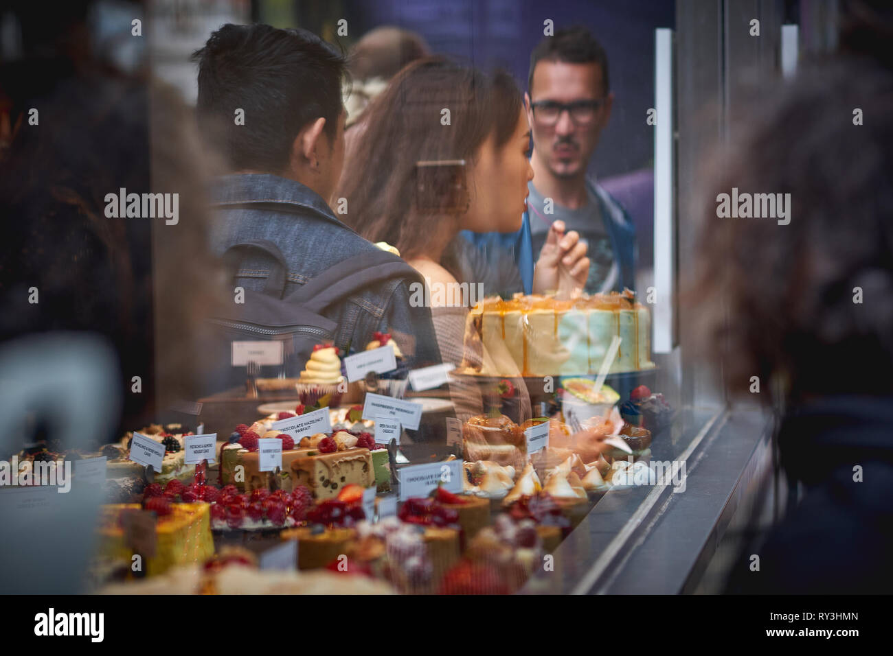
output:
M 441 357 L 459 365 L 468 308 L 478 289 L 493 288 L 470 279 L 459 233 L 521 228 L 533 178 L 521 92 L 508 73 L 427 57 L 397 74 L 367 112 L 337 194 L 347 201 L 344 220 L 396 246 L 426 278 Z

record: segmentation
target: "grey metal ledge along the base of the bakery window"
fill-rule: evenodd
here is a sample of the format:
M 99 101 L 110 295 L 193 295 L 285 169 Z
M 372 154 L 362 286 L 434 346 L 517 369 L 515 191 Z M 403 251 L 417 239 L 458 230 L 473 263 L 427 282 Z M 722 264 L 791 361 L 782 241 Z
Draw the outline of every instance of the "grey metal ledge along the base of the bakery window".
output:
M 689 436 L 683 435 L 689 444 L 673 459 L 686 463 L 684 491 L 674 493 L 670 483 L 605 494 L 555 550 L 554 569 L 531 577 L 522 594 L 686 590 L 760 473 L 755 461 L 768 448 L 772 426 L 755 408 L 690 412 Z

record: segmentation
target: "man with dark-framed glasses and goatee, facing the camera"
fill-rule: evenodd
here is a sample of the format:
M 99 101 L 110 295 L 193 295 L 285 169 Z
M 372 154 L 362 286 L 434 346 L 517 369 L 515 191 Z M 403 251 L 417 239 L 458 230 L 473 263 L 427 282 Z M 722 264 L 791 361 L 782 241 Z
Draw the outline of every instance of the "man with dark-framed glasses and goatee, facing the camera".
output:
M 587 176 L 613 103 L 605 49 L 585 28 L 557 30 L 530 54 L 528 89 L 534 177 L 522 228 L 465 237 L 487 262 L 512 253 L 527 294 L 563 288 L 567 278 L 589 294 L 634 289 L 630 217 Z

